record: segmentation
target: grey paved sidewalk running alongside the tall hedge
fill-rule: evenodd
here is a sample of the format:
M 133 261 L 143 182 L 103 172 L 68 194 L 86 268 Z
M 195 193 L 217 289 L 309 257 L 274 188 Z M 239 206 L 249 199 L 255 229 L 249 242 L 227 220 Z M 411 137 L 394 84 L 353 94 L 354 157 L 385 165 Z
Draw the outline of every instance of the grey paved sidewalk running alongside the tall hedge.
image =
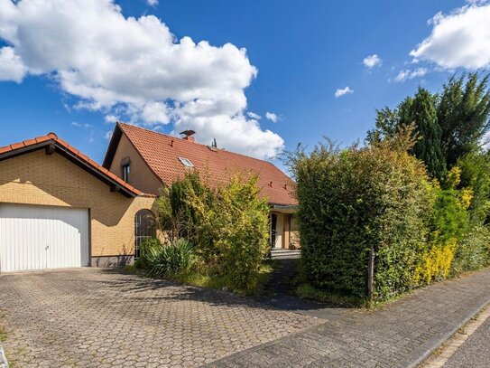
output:
M 374 312 L 337 315 L 208 366 L 414 367 L 489 302 L 490 269 L 484 269 L 418 290 Z

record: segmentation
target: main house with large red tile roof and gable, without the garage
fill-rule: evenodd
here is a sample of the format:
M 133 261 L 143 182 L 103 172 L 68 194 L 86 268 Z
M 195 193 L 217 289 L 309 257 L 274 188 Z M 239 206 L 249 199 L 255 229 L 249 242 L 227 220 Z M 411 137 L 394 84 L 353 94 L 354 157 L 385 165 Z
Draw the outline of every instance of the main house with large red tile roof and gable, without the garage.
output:
M 220 182 L 236 172 L 258 175 L 261 195 L 271 206 L 271 245 L 275 249 L 299 246 L 293 216 L 297 201 L 291 179 L 270 162 L 197 143 L 187 130 L 177 138 L 117 123 L 103 166 L 144 193 L 158 195 L 188 170 L 197 169 Z

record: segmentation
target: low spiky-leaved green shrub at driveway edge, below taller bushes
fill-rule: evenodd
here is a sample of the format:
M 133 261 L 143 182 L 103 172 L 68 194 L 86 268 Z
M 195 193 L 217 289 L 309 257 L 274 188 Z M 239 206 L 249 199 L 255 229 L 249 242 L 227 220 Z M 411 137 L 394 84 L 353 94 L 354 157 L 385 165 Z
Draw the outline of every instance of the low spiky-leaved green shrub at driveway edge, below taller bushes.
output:
M 142 265 L 149 276 L 175 277 L 190 269 L 194 261 L 189 241 L 180 239 L 162 245 L 157 241 L 149 241 L 143 247 Z

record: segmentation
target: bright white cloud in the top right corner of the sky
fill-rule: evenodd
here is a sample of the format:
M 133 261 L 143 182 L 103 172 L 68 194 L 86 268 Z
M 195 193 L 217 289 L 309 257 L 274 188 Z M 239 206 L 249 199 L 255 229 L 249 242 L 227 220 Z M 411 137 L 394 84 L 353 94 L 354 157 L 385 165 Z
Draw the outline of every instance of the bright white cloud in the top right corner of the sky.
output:
M 470 1 L 451 14 L 430 20 L 432 32 L 410 52 L 416 60 L 432 61 L 444 69 L 475 70 L 490 66 L 490 5 Z

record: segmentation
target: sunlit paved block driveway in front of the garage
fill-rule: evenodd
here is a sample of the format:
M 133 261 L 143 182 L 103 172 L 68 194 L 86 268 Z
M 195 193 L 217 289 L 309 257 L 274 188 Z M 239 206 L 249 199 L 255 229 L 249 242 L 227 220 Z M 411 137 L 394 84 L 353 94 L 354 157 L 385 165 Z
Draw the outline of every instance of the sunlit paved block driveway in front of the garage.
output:
M 199 366 L 320 322 L 116 270 L 0 275 L 13 366 Z

